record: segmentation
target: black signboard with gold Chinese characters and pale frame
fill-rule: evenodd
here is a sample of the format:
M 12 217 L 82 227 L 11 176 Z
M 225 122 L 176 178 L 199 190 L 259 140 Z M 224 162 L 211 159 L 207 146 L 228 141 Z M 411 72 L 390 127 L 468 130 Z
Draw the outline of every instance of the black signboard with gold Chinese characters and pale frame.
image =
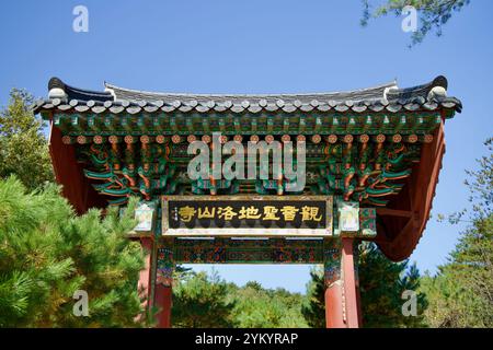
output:
M 164 235 L 330 235 L 332 197 L 165 196 Z

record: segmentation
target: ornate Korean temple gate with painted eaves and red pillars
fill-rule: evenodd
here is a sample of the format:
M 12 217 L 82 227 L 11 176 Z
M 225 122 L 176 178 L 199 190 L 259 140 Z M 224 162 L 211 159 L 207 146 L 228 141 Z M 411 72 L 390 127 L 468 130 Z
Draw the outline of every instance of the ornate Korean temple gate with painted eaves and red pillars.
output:
M 48 90 L 35 112 L 49 121 L 56 178 L 77 212 L 141 198 L 130 238 L 147 253 L 139 288 L 147 306 L 161 308 L 160 327 L 171 326 L 173 269 L 185 262 L 323 264 L 326 326 L 359 327 L 355 247 L 372 241 L 393 261 L 411 255 L 432 207 L 444 124 L 461 110 L 444 77 L 319 94 L 151 93 L 107 83 L 94 92 L 57 78 Z M 272 179 L 191 179 L 188 144 L 213 150 L 216 135 L 245 148 L 302 143 L 306 186 L 289 191 L 285 170 Z

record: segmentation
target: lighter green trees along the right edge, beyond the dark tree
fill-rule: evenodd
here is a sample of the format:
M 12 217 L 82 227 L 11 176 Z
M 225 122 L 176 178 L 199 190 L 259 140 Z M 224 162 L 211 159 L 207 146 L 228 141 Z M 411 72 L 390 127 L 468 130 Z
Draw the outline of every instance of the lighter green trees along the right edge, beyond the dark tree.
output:
M 427 277 L 422 290 L 428 295 L 426 319 L 433 327 L 493 327 L 493 152 L 467 172 L 472 211 L 452 214 L 452 223 L 467 221 L 448 262 Z M 462 220 L 463 217 L 468 220 Z

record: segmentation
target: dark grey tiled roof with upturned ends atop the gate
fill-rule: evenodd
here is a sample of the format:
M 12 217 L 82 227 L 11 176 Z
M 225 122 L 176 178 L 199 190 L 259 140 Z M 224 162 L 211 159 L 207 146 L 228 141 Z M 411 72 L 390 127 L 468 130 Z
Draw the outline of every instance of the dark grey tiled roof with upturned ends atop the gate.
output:
M 47 100 L 36 103 L 36 113 L 64 110 L 76 113 L 260 113 L 260 112 L 382 112 L 437 110 L 460 112 L 462 104 L 446 95 L 447 80 L 399 89 L 395 82 L 348 92 L 307 94 L 180 94 L 156 93 L 118 88 L 105 83 L 104 92 L 67 85 L 58 78 L 48 84 Z

